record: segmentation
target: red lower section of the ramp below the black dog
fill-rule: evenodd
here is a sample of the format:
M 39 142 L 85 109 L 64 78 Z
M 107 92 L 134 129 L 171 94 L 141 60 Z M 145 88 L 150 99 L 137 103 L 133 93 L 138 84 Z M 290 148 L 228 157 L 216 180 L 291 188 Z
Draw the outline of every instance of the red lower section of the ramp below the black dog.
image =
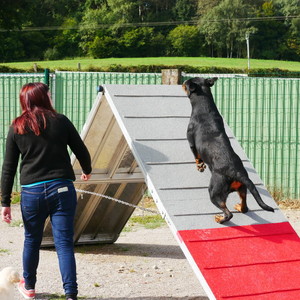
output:
M 300 243 L 288 222 L 178 232 L 216 299 L 300 298 Z

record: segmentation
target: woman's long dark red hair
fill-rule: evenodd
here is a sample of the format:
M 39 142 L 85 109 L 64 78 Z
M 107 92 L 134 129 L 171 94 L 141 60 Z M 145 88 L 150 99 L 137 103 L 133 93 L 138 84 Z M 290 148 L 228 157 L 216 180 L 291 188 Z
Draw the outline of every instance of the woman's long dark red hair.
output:
M 40 135 L 46 128 L 46 116 L 55 115 L 49 95 L 49 87 L 41 82 L 27 83 L 20 91 L 22 114 L 13 121 L 18 134 L 33 131 Z

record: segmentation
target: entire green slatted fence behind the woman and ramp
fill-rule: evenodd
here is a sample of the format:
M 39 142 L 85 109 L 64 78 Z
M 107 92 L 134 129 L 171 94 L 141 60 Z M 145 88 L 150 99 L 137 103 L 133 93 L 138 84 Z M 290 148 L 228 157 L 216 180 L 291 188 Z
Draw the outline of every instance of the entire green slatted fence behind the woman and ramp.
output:
M 0 165 L 4 139 L 19 113 L 18 93 L 43 74 L 0 76 Z M 185 80 L 193 75 L 185 75 Z M 55 108 L 80 130 L 102 84 L 161 84 L 161 74 L 56 72 L 50 81 Z M 300 80 L 219 78 L 213 87 L 217 106 L 270 189 L 300 199 Z

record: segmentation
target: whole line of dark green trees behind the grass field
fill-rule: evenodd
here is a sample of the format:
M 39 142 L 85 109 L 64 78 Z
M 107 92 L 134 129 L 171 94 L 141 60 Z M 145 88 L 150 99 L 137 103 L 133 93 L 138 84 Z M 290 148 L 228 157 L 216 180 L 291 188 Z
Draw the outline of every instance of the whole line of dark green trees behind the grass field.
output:
M 0 60 L 299 60 L 300 0 L 0 0 Z

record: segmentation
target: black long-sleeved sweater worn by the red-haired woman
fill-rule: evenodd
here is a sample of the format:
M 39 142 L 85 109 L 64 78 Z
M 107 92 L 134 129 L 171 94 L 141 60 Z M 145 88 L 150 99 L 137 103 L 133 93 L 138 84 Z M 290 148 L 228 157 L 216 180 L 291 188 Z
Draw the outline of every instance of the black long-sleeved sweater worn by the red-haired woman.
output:
M 21 154 L 20 183 L 32 184 L 51 179 L 75 180 L 68 147 L 78 159 L 82 171 L 92 171 L 90 154 L 71 121 L 62 114 L 47 117 L 46 129 L 39 136 L 32 131 L 17 134 L 11 126 L 1 176 L 1 204 L 10 206 L 10 197 Z

